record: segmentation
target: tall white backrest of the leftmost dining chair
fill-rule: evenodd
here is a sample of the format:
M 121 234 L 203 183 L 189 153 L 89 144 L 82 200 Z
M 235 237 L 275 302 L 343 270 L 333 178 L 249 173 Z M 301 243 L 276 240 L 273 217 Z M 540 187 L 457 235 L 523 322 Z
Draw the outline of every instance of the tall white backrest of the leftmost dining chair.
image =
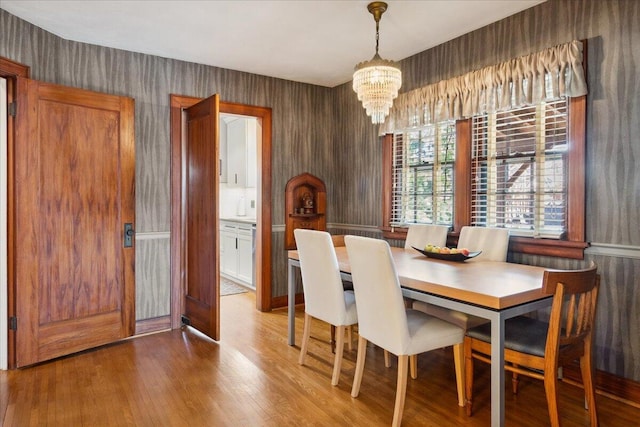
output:
M 293 231 L 300 258 L 305 313 L 332 325 L 348 325 L 344 288 L 331 235 L 325 231 Z

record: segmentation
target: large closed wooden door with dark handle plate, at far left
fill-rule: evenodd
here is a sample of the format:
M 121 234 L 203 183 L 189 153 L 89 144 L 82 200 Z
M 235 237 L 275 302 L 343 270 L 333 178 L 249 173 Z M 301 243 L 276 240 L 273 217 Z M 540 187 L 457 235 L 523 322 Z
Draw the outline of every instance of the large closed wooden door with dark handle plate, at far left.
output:
M 16 366 L 135 331 L 134 102 L 18 78 Z M 133 241 L 134 239 L 131 238 Z

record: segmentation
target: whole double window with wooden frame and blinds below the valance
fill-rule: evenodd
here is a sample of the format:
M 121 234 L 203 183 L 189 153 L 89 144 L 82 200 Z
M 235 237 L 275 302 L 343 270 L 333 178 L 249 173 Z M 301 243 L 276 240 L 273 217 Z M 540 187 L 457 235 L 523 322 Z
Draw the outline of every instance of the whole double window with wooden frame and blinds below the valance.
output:
M 403 239 L 420 222 L 452 225 L 453 236 L 505 227 L 511 251 L 582 259 L 585 105 L 565 98 L 388 134 L 383 235 Z

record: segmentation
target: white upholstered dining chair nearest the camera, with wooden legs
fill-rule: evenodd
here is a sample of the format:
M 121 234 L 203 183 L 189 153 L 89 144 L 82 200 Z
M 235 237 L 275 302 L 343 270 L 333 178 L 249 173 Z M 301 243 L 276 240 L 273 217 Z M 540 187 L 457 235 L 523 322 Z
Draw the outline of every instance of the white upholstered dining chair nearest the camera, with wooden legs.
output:
M 454 347 L 458 404 L 464 405 L 464 331 L 425 313 L 406 309 L 402 290 L 384 240 L 345 236 L 358 312 L 358 356 L 351 396 L 358 397 L 364 372 L 367 342 L 398 356 L 398 380 L 393 426 L 402 422 L 409 357 L 437 348 Z

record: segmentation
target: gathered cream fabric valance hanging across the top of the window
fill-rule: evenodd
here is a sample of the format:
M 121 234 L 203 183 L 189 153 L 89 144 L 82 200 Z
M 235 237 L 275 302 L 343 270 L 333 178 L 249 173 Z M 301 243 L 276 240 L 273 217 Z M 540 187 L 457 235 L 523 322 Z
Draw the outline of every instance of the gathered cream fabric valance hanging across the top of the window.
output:
M 586 95 L 582 43 L 570 43 L 398 95 L 381 133 Z

